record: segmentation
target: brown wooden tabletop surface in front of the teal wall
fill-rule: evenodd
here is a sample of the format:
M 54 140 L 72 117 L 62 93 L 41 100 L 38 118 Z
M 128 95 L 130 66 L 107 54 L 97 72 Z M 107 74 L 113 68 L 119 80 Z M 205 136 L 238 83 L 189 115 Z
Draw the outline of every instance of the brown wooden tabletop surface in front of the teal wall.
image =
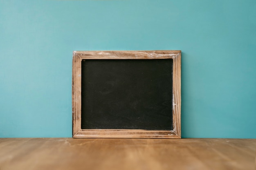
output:
M 254 170 L 256 139 L 0 138 L 0 170 Z

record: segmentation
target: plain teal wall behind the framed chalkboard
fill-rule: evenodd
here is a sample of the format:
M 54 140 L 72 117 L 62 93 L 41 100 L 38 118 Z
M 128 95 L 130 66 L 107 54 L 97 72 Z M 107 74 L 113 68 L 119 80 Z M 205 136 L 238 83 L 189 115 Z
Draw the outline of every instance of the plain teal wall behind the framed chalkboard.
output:
M 87 50 L 182 50 L 182 137 L 256 138 L 256 0 L 0 0 L 0 137 L 72 137 Z

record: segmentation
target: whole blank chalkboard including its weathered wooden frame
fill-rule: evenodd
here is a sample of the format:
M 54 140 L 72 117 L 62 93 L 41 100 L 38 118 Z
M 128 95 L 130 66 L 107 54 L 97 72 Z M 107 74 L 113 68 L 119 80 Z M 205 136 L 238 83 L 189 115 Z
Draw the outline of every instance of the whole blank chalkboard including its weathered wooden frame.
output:
M 181 51 L 74 51 L 73 137 L 180 138 Z

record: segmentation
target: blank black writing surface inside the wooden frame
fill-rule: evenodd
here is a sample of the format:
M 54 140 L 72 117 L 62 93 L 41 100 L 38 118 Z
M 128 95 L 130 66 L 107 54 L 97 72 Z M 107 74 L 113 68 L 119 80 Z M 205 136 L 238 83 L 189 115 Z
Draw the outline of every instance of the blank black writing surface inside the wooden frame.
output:
M 81 128 L 173 130 L 173 59 L 82 60 Z

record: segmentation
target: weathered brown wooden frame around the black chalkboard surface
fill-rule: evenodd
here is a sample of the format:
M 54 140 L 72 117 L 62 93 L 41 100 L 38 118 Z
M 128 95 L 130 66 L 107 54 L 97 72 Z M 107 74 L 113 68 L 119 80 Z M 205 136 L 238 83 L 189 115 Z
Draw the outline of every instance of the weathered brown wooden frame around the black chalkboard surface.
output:
M 81 129 L 83 59 L 173 59 L 173 130 Z M 74 51 L 72 65 L 72 135 L 74 138 L 181 138 L 181 51 Z

